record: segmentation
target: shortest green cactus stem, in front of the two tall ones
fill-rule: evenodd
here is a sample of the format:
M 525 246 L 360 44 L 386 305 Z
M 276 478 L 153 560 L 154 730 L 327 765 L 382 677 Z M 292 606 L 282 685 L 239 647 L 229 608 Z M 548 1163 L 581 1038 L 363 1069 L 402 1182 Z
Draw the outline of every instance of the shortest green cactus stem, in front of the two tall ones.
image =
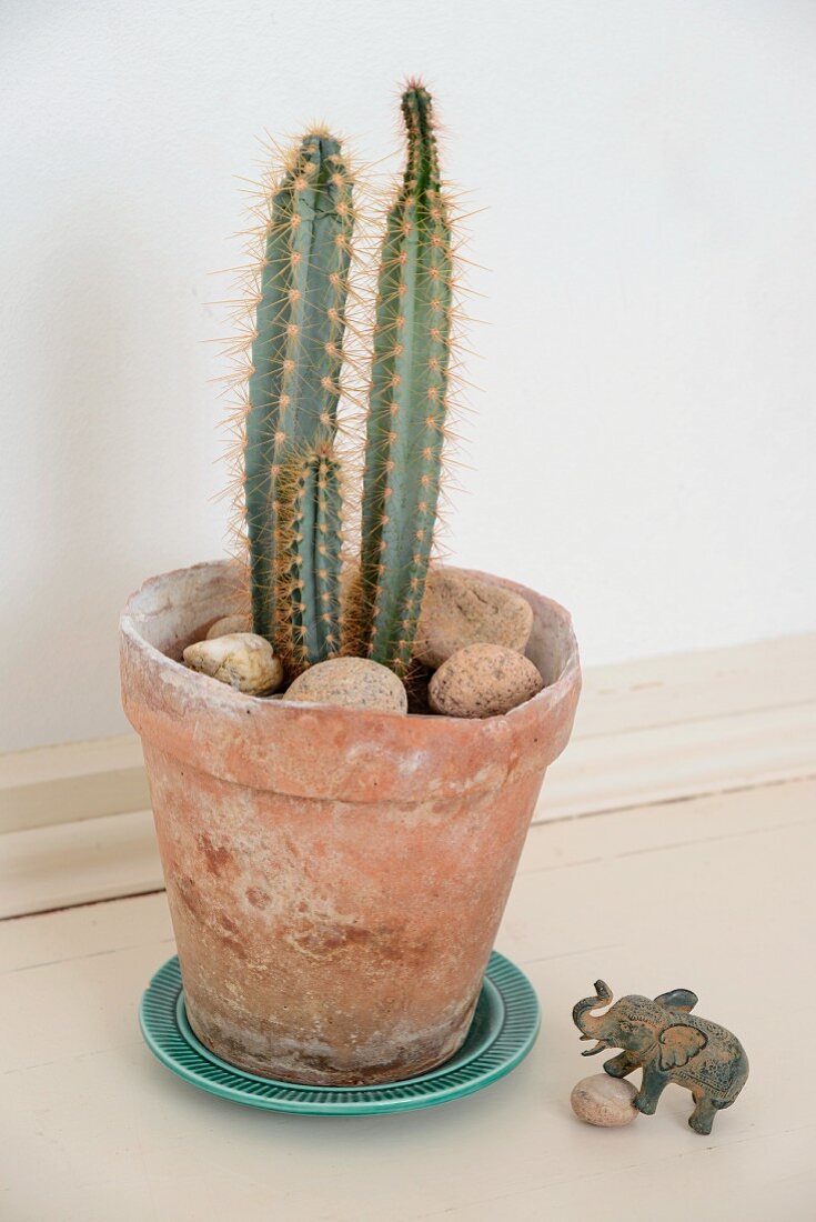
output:
M 340 653 L 341 466 L 331 447 L 287 458 L 275 492 L 275 651 L 298 675 Z

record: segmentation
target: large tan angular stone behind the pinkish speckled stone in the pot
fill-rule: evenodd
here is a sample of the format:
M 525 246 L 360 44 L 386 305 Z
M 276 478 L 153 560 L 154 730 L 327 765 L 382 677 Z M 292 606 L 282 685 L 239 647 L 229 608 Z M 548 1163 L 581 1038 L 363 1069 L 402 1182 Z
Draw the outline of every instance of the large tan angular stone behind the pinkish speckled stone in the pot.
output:
M 467 645 L 503 645 L 523 654 L 531 628 L 533 607 L 520 594 L 456 568 L 431 568 L 414 656 L 436 670 Z

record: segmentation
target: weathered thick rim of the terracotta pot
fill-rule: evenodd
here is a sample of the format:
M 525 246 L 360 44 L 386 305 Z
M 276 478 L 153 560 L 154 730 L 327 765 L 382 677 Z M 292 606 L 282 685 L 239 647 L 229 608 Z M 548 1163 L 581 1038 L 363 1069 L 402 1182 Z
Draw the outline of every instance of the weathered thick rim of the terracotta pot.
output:
M 530 602 L 534 653 L 552 659 L 558 672 L 537 695 L 503 715 L 404 715 L 247 695 L 189 670 L 143 635 L 143 624 L 162 612 L 172 620 L 176 611 L 169 631 L 176 633 L 177 645 L 186 644 L 184 629 L 198 627 L 197 590 L 202 606 L 209 598 L 211 611 L 219 583 L 225 590 L 233 585 L 235 566 L 222 560 L 173 569 L 149 578 L 128 599 L 120 620 L 122 703 L 131 725 L 151 748 L 222 780 L 279 793 L 343 796 L 352 803 L 374 800 L 374 794 L 410 804 L 419 792 L 442 799 L 495 788 L 509 775 L 542 775 L 566 747 L 580 665 L 569 613 L 551 599 L 463 569 Z M 200 623 L 206 623 L 204 616 Z

